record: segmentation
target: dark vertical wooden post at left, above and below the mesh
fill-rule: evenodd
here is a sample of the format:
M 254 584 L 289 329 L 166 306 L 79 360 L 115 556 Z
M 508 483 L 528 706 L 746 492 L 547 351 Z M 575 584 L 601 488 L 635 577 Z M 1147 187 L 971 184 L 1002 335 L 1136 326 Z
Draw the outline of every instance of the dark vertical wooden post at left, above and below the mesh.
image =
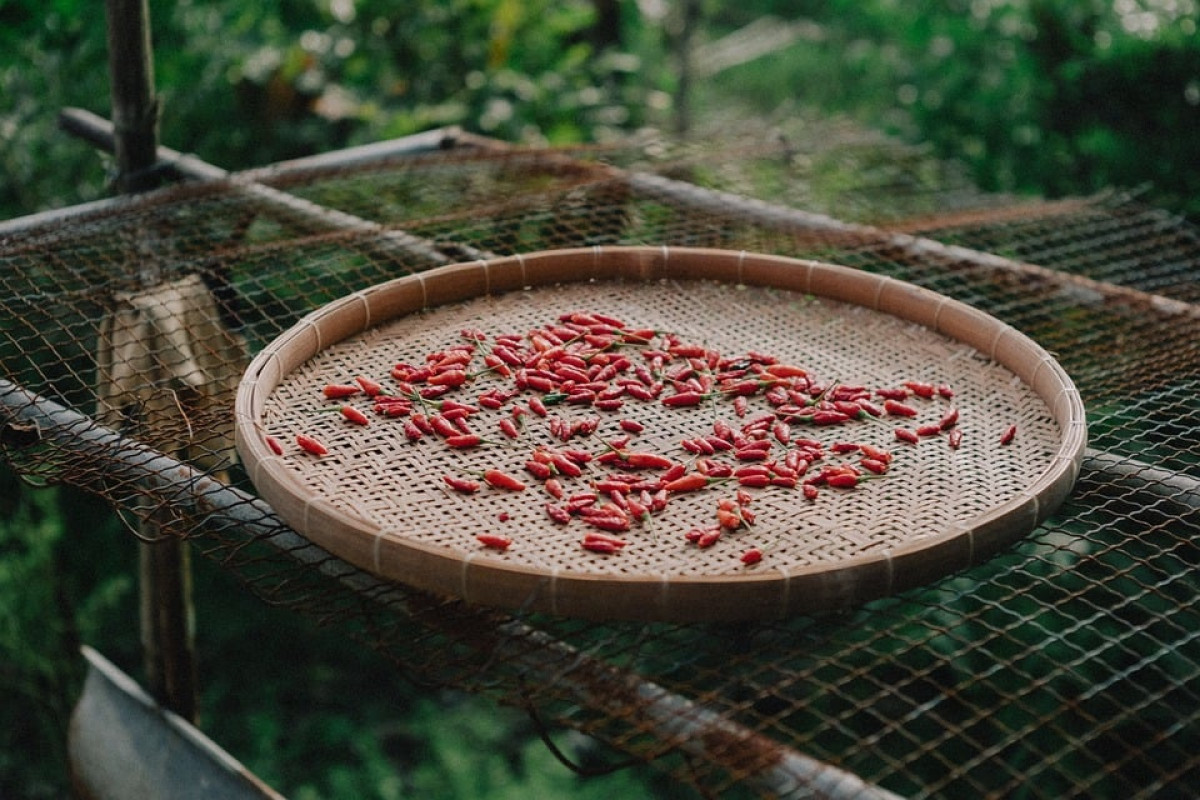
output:
M 154 89 L 148 0 L 106 0 L 108 76 L 113 102 L 116 187 L 154 188 L 158 101 Z M 142 646 L 149 691 L 158 703 L 196 721 L 197 678 L 191 560 L 187 545 L 158 521 L 142 523 L 139 543 Z

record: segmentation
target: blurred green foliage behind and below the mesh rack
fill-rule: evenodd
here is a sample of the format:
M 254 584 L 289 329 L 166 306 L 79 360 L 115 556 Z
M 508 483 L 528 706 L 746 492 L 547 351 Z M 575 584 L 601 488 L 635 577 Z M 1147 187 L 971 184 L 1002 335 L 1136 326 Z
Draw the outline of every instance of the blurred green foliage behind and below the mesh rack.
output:
M 694 85 L 700 118 L 846 114 L 985 188 L 1144 186 L 1200 215 L 1194 0 L 697 2 L 698 43 L 767 14 L 820 31 Z M 152 0 L 162 140 L 236 169 L 450 124 L 529 143 L 670 127 L 678 4 L 619 2 L 613 29 L 604 5 Z M 107 193 L 107 158 L 56 127 L 64 107 L 107 113 L 107 95 L 102 2 L 0 0 L 0 218 Z M 96 500 L 0 469 L 0 796 L 65 792 L 80 643 L 138 674 L 134 575 Z M 575 778 L 524 717 L 412 687 L 210 564 L 197 587 L 204 727 L 290 796 L 667 794 L 646 772 Z

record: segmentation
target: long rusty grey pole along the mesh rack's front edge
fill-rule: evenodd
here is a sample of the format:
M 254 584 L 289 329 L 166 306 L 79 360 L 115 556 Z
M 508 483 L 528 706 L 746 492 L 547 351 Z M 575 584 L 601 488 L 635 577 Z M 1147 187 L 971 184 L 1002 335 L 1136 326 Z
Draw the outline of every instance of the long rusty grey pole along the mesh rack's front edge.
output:
M 408 609 L 406 593 L 359 571 L 311 545 L 287 527 L 275 512 L 251 494 L 215 480 L 169 456 L 95 423 L 54 401 L 0 379 L 0 437 L 5 429 L 36 428 L 38 440 L 89 464 L 115 481 L 137 481 L 161 493 L 163 504 L 202 519 L 202 525 L 224 535 L 242 533 L 247 540 L 268 542 L 288 558 L 313 566 L 360 596 L 389 608 Z M 97 477 L 97 480 L 104 480 Z M 664 742 L 715 763 L 748 786 L 779 798 L 829 800 L 896 800 L 896 795 L 865 783 L 858 776 L 803 756 L 744 726 L 731 722 L 685 697 L 592 658 L 564 642 L 520 620 L 463 608 L 455 614 L 425 614 L 422 620 L 442 626 L 449 636 L 462 636 L 466 620 L 485 619 L 470 630 L 472 643 L 484 662 L 510 663 L 530 686 L 553 685 L 581 705 L 618 718 L 634 717 Z M 492 624 L 498 618 L 499 624 Z M 559 664 L 570 664 L 560 669 Z

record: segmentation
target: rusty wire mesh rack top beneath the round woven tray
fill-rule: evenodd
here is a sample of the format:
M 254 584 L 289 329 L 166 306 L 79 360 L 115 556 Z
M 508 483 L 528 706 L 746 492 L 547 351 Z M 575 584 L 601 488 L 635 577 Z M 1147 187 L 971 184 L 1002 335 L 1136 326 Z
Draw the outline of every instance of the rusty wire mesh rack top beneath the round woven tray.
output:
M 462 138 L 36 222 L 0 239 L 6 461 L 154 515 L 268 602 L 412 676 L 528 708 L 713 794 L 808 786 L 798 753 L 913 798 L 1183 796 L 1200 783 L 1200 240 L 1181 219 L 1116 193 L 985 196 L 920 151 L 811 126 L 586 154 Z M 1010 323 L 1087 405 L 1073 495 L 966 573 L 751 626 L 466 608 L 373 581 L 253 498 L 228 451 L 229 375 L 196 372 L 204 354 L 252 354 L 326 301 L 439 261 L 598 243 L 818 258 Z M 197 313 L 221 325 L 191 330 L 191 349 L 150 325 L 157 344 L 137 362 L 149 379 L 103 414 L 112 369 L 97 354 L 118 311 L 167 302 L 164 285 L 186 295 L 190 276 L 215 300 Z

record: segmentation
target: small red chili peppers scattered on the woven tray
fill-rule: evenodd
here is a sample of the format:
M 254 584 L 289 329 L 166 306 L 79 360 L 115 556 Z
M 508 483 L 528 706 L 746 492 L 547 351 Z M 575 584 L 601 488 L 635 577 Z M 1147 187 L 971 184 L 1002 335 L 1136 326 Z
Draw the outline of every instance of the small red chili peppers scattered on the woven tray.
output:
M 559 525 L 577 524 L 580 546 L 602 555 L 620 553 L 638 530 L 653 531 L 654 518 L 683 493 L 715 495 L 713 517 L 684 534 L 689 546 L 709 548 L 752 528 L 757 492 L 799 491 L 816 501 L 826 489 L 851 491 L 888 474 L 892 451 L 848 435 L 827 445 L 816 438 L 818 429 L 840 432 L 865 421 L 894 425 L 894 440 L 902 446 L 941 438 L 958 447 L 962 440 L 948 385 L 827 384 L 769 354 L 730 356 L 587 311 L 564 313 L 524 333 L 463 330 L 457 343 L 424 362 L 396 363 L 389 379 L 385 385 L 359 375 L 323 392 L 348 425 L 371 425 L 372 415 L 394 419 L 409 443 L 436 440 L 458 450 L 528 446 L 524 476 L 492 468 L 443 481 L 463 494 L 485 487 L 524 492 L 527 481 L 534 482 L 546 516 Z M 648 403 L 704 422 L 677 450 L 640 449 L 644 423 L 634 409 Z M 482 415 L 485 409 L 493 414 Z M 478 428 L 478 420 L 488 416 L 494 432 Z M 916 425 L 918 417 L 930 421 Z M 533 425 L 548 435 L 530 435 Z M 1009 426 L 1001 444 L 1015 433 Z M 295 441 L 312 456 L 328 453 L 312 435 Z M 268 444 L 283 453 L 275 438 Z M 499 551 L 514 545 L 494 533 L 478 540 Z M 768 551 L 750 547 L 738 558 L 752 566 Z

